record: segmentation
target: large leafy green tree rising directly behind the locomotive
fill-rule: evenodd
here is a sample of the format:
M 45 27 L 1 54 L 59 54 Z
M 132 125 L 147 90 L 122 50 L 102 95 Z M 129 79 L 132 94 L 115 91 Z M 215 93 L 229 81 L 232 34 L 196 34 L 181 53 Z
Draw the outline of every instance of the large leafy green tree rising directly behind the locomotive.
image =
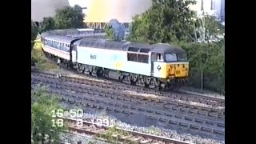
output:
M 195 41 L 194 11 L 188 6 L 194 0 L 153 0 L 153 5 L 142 15 L 134 17 L 130 39 L 147 42 Z

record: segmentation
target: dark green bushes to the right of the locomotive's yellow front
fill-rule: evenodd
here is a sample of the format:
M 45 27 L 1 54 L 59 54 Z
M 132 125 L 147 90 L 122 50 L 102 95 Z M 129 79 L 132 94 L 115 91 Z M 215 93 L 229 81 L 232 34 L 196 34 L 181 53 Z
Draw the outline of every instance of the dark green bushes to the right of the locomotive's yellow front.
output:
M 204 87 L 225 93 L 225 57 L 224 43 L 183 44 L 190 61 L 190 76 L 188 84 L 200 87 L 201 70 L 203 71 Z

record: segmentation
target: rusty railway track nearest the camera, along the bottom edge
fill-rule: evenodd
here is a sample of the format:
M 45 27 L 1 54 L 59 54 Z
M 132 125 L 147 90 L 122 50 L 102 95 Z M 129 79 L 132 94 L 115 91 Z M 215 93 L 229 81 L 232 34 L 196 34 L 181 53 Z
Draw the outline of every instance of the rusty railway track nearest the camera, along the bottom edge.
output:
M 77 126 L 77 120 L 73 118 L 62 118 L 66 122 L 69 122 L 68 132 L 79 134 L 86 134 L 90 136 L 96 136 L 96 138 L 106 138 L 106 131 L 110 130 L 110 126 L 97 126 L 93 122 L 83 121 L 82 126 Z M 115 128 L 117 133 L 113 133 L 110 137 L 115 138 L 116 142 L 122 143 L 140 143 L 140 144 L 192 144 L 190 142 L 182 142 L 173 138 L 165 138 L 153 134 L 145 134 L 132 130 L 125 130 Z M 104 134 L 105 133 L 105 134 Z M 108 135 L 109 136 L 109 135 Z

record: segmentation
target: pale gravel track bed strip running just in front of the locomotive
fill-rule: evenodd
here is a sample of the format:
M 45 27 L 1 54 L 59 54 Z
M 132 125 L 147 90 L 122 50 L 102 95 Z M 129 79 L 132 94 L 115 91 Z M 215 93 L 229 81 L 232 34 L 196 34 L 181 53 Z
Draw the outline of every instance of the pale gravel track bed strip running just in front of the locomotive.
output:
M 56 74 L 49 74 L 49 72 L 42 72 L 42 71 L 34 71 L 33 74 L 41 74 L 41 75 L 48 75 L 51 77 L 56 77 Z M 99 79 L 99 78 L 91 78 L 91 77 L 81 77 L 78 74 L 72 74 L 73 77 L 73 81 L 75 82 L 79 82 L 79 83 L 86 83 L 88 81 L 92 82 L 98 82 L 98 84 L 100 83 L 101 85 L 105 85 L 106 88 L 118 88 L 118 90 L 132 90 L 132 91 L 136 91 L 137 93 L 146 93 L 146 94 L 150 94 L 151 96 L 155 96 L 155 97 L 167 97 L 167 98 L 174 98 L 174 99 L 180 99 L 180 100 L 186 100 L 186 101 L 192 101 L 192 102 L 198 102 L 198 103 L 202 103 L 202 104 L 206 104 L 206 105 L 212 105 L 212 106 L 225 106 L 225 102 L 223 100 L 220 99 L 215 99 L 217 102 L 214 102 L 214 100 L 212 98 L 207 99 L 204 97 L 198 98 L 198 96 L 194 95 L 191 96 L 190 94 L 178 94 L 178 93 L 174 93 L 170 94 L 167 92 L 160 92 L 158 90 L 152 90 L 152 89 L 146 89 L 146 88 L 142 88 L 139 86 L 130 86 L 130 85 L 126 85 L 123 84 L 121 82 L 114 82 L 114 81 L 106 81 L 106 79 Z M 65 76 L 65 74 L 63 74 L 63 79 L 72 79 L 70 78 L 70 74 L 68 77 Z

